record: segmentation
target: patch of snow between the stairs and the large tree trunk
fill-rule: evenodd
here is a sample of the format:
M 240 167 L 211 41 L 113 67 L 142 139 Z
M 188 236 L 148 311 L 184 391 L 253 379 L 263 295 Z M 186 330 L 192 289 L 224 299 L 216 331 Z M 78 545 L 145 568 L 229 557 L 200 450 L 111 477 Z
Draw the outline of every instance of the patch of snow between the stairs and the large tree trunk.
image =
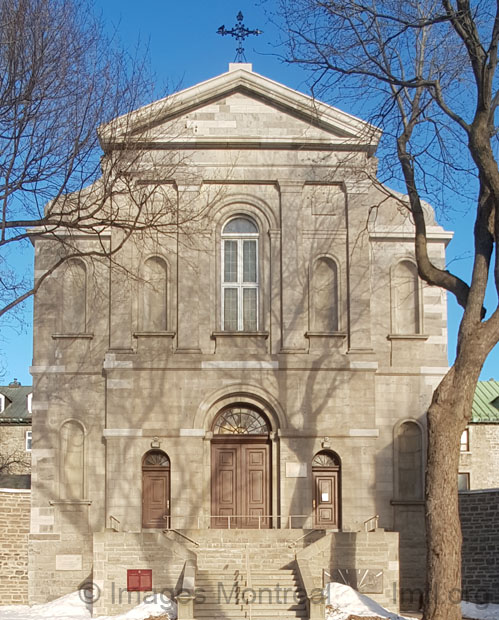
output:
M 348 620 L 349 616 L 378 616 L 388 620 L 413 620 L 388 611 L 372 598 L 343 583 L 326 585 L 326 620 Z

